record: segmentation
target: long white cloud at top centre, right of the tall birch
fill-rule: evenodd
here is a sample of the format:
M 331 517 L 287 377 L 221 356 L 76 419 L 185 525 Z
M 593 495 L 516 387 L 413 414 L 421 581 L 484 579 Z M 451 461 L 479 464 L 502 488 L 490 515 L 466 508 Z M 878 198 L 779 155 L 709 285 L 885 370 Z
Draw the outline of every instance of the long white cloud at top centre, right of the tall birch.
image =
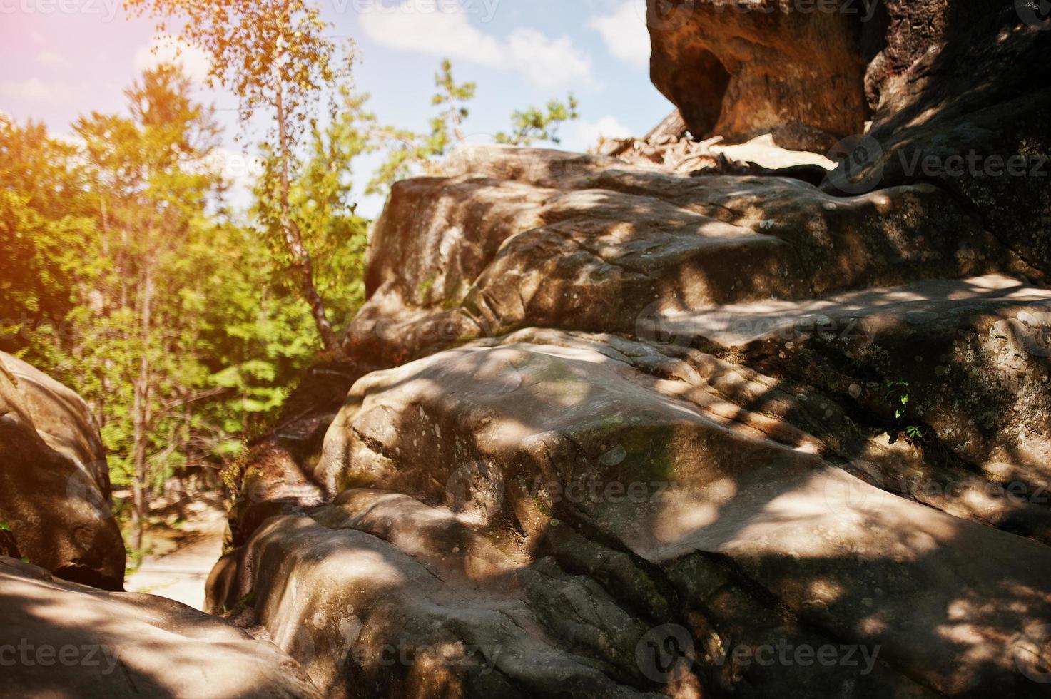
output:
M 461 5 L 452 11 L 440 5 L 428 9 L 407 1 L 398 12 L 373 7 L 362 13 L 362 27 L 388 48 L 515 70 L 541 89 L 597 86 L 591 59 L 568 36 L 552 39 L 536 29 L 518 28 L 499 40 L 475 28 Z M 445 6 L 449 9 L 448 3 Z

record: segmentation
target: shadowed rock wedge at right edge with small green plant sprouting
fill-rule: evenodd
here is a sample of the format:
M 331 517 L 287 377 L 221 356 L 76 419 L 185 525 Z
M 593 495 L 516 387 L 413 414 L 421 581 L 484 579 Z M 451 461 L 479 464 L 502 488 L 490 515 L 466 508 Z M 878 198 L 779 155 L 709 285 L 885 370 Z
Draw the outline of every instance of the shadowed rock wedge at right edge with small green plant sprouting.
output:
M 881 439 L 928 455 L 857 462 L 881 488 L 1051 543 L 1051 291 L 992 274 L 650 323 L 672 345 L 701 341 L 837 396 L 885 430 Z

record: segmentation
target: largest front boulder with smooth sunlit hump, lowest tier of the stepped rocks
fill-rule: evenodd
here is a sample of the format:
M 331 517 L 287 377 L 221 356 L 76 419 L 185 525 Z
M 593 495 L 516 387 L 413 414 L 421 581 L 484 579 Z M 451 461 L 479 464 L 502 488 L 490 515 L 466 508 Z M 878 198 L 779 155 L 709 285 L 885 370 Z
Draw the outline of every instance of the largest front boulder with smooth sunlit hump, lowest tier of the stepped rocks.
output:
M 308 472 L 338 496 L 265 522 L 211 603 L 250 595 L 334 696 L 1038 696 L 1015 656 L 1051 621 L 1051 550 L 857 478 L 811 423 L 853 429 L 614 336 L 432 354 L 355 385 Z M 779 646 L 871 662 L 742 660 Z

